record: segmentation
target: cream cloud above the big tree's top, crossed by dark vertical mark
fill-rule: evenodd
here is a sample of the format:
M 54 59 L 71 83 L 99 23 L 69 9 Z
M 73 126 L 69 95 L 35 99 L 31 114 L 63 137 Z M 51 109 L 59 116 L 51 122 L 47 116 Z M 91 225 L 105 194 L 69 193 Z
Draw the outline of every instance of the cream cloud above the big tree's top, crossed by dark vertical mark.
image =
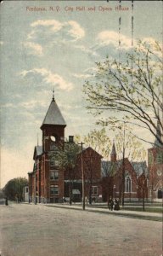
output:
M 113 44 L 115 48 L 119 46 L 119 39 L 121 41 L 121 48 L 122 49 L 129 49 L 132 48 L 132 38 L 126 37 L 123 34 L 114 31 L 103 31 L 98 33 L 98 44 L 99 46 L 105 46 L 109 44 Z

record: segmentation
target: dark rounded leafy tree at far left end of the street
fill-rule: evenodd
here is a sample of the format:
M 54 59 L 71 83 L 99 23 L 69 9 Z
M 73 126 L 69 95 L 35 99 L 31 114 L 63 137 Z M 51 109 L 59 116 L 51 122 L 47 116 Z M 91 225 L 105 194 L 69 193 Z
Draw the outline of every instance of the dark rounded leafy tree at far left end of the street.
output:
M 4 195 L 9 200 L 23 201 L 23 188 L 28 185 L 28 180 L 25 177 L 15 177 L 8 181 L 3 191 Z

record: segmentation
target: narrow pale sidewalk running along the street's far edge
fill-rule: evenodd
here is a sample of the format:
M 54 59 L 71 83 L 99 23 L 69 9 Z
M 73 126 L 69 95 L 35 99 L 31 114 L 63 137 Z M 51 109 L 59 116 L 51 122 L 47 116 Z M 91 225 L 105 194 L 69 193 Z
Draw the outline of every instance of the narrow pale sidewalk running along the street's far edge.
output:
M 76 204 L 76 205 L 68 205 L 68 204 L 46 204 L 44 205 L 46 207 L 59 207 L 59 208 L 65 208 L 70 210 L 78 210 L 82 211 L 82 205 Z M 162 221 L 163 220 L 163 214 L 158 212 L 138 212 L 138 211 L 126 211 L 126 210 L 120 210 L 120 211 L 110 211 L 108 208 L 100 208 L 96 206 L 92 207 L 85 207 L 86 212 L 98 212 L 98 213 L 105 213 L 105 214 L 112 214 L 117 216 L 123 216 L 126 218 L 141 218 L 141 219 L 148 219 L 148 220 L 154 220 L 154 221 Z

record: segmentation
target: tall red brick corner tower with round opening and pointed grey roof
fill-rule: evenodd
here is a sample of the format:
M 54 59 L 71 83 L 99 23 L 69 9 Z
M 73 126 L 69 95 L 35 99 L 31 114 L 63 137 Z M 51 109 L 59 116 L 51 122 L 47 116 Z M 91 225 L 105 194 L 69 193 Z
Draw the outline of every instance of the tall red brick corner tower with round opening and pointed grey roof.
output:
M 59 202 L 64 196 L 64 170 L 59 167 L 59 147 L 65 141 L 65 119 L 52 98 L 42 130 L 42 201 Z

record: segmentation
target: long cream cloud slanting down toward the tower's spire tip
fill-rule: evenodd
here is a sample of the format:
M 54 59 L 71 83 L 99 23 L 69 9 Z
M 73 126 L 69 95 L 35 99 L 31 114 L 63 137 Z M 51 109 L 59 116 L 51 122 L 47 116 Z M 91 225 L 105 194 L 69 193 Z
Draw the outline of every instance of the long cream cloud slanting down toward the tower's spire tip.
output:
M 40 75 L 42 78 L 42 82 L 46 84 L 58 85 L 61 90 L 71 90 L 73 88 L 73 84 L 68 83 L 63 79 L 59 74 L 52 73 L 47 68 L 33 68 L 31 70 L 24 70 L 20 73 L 20 75 L 25 78 L 27 75 L 31 77 L 35 75 Z

